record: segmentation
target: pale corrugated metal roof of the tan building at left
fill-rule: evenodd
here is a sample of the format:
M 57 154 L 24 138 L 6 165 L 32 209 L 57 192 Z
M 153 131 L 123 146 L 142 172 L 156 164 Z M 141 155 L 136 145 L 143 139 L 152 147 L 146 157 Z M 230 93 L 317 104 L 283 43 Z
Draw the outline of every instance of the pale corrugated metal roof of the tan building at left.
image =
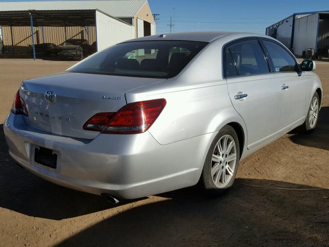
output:
M 0 2 L 0 11 L 91 10 L 115 17 L 134 17 L 147 0 Z

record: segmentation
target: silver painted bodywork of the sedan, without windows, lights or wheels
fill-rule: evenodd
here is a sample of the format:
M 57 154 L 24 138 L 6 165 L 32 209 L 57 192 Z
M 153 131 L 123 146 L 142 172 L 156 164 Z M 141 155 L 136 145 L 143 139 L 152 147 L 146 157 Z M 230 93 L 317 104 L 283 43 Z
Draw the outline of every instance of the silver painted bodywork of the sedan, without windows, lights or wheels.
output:
M 210 144 L 225 125 L 241 126 L 241 158 L 247 157 L 301 125 L 314 92 L 322 90 L 313 72 L 223 78 L 222 47 L 254 36 L 265 37 L 234 32 L 166 34 L 166 40 L 210 42 L 167 80 L 75 73 L 26 80 L 21 97 L 28 112 L 38 115 L 9 114 L 4 131 L 10 155 L 46 180 L 98 195 L 138 198 L 195 185 Z M 285 85 L 289 87 L 282 90 Z M 46 101 L 46 91 L 56 92 L 56 102 Z M 247 97 L 235 99 L 237 95 Z M 96 113 L 158 98 L 167 104 L 147 132 L 116 135 L 82 129 Z M 38 147 L 58 154 L 56 170 L 34 162 L 33 150 Z

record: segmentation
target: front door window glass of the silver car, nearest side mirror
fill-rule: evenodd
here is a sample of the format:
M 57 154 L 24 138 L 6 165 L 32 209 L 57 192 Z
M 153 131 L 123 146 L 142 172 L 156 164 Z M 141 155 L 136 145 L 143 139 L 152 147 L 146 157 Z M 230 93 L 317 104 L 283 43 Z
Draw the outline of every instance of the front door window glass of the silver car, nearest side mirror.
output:
M 272 59 L 275 72 L 295 72 L 296 61 L 291 55 L 280 45 L 263 40 L 263 43 Z

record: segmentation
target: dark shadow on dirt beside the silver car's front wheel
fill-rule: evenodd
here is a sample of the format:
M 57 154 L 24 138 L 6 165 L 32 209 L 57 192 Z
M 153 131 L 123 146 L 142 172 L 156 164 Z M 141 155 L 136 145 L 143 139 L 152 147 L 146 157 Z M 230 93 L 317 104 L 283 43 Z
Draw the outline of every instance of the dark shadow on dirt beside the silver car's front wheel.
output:
M 289 138 L 294 143 L 329 150 L 329 107 L 322 107 L 319 112 L 317 127 L 309 133 L 300 133 L 298 128 L 290 132 Z

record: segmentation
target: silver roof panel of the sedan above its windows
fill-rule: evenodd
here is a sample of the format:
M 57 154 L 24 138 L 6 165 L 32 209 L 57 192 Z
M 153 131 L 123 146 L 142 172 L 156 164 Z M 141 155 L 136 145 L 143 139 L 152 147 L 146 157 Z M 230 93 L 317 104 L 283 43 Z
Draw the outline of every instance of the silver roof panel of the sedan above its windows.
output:
M 232 36 L 234 39 L 239 39 L 243 37 L 266 37 L 259 33 L 250 32 L 227 32 L 227 31 L 208 31 L 208 32 L 176 32 L 176 33 L 164 33 L 157 34 L 153 36 L 146 36 L 142 38 L 137 38 L 125 42 L 131 41 L 151 41 L 151 40 L 184 40 L 184 41 L 198 41 L 198 42 L 211 42 L 223 37 Z M 122 43 L 125 43 L 122 42 Z

